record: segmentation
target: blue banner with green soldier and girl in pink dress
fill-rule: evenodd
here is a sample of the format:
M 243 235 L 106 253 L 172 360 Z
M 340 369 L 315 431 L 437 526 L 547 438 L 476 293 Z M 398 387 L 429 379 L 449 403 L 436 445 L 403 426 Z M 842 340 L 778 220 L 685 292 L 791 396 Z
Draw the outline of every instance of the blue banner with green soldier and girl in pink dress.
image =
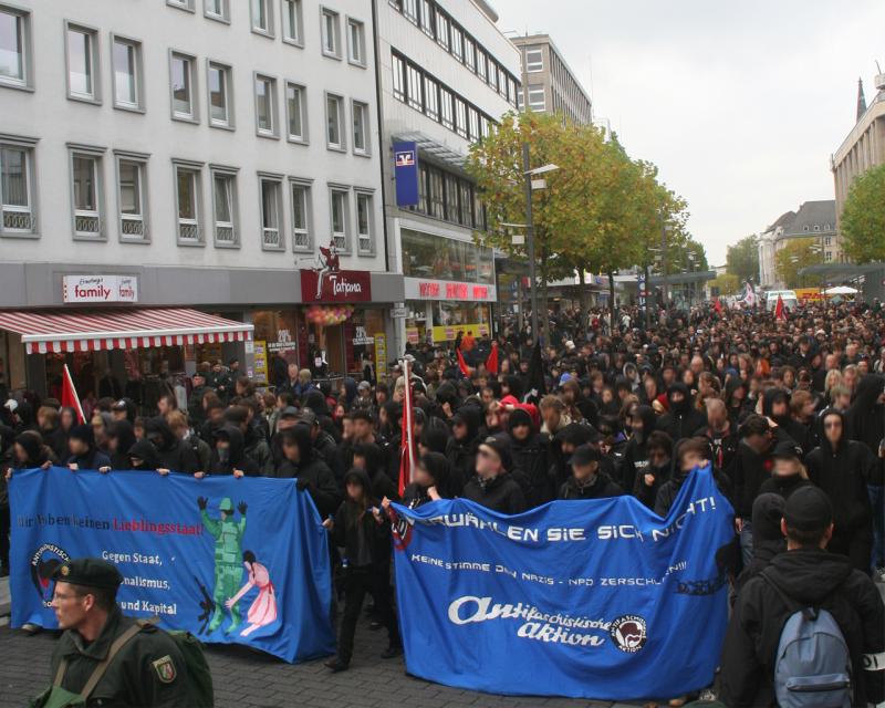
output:
M 119 569 L 127 615 L 287 662 L 334 653 L 326 532 L 295 480 L 55 467 L 9 494 L 13 627 L 58 626 L 50 575 L 91 555 Z

